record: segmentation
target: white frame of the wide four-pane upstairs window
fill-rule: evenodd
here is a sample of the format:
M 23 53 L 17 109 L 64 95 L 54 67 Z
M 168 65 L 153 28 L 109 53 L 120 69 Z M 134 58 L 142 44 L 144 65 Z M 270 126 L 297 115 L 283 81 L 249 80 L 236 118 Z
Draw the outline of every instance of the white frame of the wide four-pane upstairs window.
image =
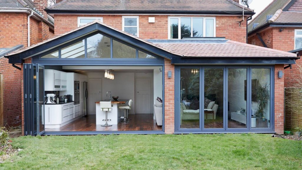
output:
M 178 19 L 178 38 L 170 38 L 170 19 Z M 216 17 L 186 17 L 186 16 L 181 16 L 181 17 L 168 17 L 168 39 L 169 40 L 180 40 L 181 39 L 181 18 L 191 18 L 191 37 L 193 37 L 193 18 L 203 18 L 203 37 L 205 37 L 205 34 L 206 34 L 206 19 L 214 19 L 214 25 L 213 25 L 213 28 L 214 28 L 214 37 L 216 37 Z

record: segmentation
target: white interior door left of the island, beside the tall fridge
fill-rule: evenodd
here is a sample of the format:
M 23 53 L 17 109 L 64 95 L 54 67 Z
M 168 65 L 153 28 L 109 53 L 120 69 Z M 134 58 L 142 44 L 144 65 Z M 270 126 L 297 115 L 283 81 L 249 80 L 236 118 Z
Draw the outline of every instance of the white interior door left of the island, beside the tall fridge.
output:
M 88 114 L 95 115 L 95 102 L 102 100 L 102 79 L 88 80 Z

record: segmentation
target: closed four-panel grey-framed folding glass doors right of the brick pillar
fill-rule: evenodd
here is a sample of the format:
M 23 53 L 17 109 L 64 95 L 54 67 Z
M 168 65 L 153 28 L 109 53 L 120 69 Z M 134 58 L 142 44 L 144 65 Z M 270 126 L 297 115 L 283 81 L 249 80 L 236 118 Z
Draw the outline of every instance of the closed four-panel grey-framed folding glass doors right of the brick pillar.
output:
M 272 131 L 273 67 L 177 68 L 177 131 Z

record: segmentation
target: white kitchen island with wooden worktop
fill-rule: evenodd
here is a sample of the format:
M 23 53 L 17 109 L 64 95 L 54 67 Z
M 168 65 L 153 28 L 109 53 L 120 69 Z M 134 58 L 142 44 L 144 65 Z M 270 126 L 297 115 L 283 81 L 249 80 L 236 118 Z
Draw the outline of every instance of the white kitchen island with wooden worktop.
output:
M 104 102 L 108 102 L 109 100 L 102 100 Z M 119 122 L 118 118 L 118 105 L 125 104 L 127 100 L 111 100 L 111 107 L 112 110 L 108 112 L 107 119 L 111 119 L 108 121 L 110 125 L 117 125 Z M 96 118 L 96 125 L 104 125 L 106 122 L 106 112 L 101 111 L 100 102 L 95 102 L 95 118 Z M 103 121 L 104 120 L 104 121 Z

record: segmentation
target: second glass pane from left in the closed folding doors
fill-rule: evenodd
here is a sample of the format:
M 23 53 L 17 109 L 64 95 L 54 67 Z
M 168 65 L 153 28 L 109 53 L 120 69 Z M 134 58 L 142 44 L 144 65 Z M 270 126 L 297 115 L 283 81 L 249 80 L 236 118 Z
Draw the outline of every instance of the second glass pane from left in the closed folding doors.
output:
M 223 126 L 223 81 L 224 68 L 204 69 L 204 128 L 217 129 Z

